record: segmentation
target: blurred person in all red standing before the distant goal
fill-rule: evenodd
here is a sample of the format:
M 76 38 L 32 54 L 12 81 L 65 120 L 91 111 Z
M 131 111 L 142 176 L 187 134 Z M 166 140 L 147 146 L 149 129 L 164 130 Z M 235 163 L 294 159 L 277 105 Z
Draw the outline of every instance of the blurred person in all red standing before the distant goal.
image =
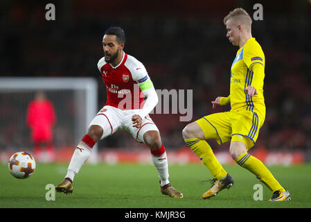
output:
M 34 143 L 34 156 L 37 160 L 43 161 L 42 146 L 46 148 L 48 161 L 55 160 L 55 151 L 52 144 L 53 126 L 56 122 L 53 103 L 46 99 L 42 91 L 35 94 L 27 108 L 26 124 L 31 129 L 31 139 Z

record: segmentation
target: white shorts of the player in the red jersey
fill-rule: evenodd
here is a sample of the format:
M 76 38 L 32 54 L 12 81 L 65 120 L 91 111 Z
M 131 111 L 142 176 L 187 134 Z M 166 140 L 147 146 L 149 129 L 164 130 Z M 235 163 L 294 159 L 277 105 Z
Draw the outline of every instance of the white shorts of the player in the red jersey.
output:
M 143 135 L 145 132 L 150 130 L 159 132 L 159 129 L 149 115 L 142 119 L 141 128 L 133 127 L 132 116 L 136 113 L 135 110 L 120 110 L 113 106 L 105 105 L 89 123 L 89 127 L 98 125 L 103 128 L 104 133 L 100 139 L 104 139 L 118 131 L 127 131 L 137 142 L 144 143 Z

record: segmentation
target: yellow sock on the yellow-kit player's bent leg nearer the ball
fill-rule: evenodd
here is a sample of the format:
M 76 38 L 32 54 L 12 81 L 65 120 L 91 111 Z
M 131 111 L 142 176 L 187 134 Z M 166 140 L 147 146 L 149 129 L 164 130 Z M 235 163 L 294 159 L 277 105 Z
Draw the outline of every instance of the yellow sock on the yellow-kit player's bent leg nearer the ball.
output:
M 185 139 L 186 144 L 195 152 L 195 154 L 202 160 L 203 164 L 211 171 L 214 178 L 220 180 L 227 175 L 224 168 L 216 159 L 211 146 L 205 140 L 191 138 Z

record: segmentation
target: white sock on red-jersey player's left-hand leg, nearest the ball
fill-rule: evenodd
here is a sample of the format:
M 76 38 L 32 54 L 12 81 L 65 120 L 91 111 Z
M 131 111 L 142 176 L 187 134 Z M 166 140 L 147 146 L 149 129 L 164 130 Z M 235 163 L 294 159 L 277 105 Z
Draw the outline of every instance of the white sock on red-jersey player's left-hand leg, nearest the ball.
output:
M 73 152 L 65 178 L 70 178 L 73 181 L 73 178 L 80 171 L 85 161 L 87 161 L 89 155 L 91 155 L 91 148 L 84 142 L 80 142 Z

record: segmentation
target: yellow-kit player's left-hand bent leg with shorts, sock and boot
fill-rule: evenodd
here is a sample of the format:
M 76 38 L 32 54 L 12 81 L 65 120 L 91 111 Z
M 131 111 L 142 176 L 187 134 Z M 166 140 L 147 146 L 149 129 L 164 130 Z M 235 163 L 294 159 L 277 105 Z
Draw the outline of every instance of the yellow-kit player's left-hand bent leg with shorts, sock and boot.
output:
M 227 113 L 211 114 L 188 124 L 182 132 L 186 144 L 197 154 L 214 177 L 211 180 L 211 188 L 203 194 L 202 198 L 215 196 L 222 189 L 233 185 L 233 178 L 226 173 L 211 146 L 206 142 L 206 139 L 216 139 L 219 144 L 222 144 L 229 139 L 230 126 L 226 116 Z

